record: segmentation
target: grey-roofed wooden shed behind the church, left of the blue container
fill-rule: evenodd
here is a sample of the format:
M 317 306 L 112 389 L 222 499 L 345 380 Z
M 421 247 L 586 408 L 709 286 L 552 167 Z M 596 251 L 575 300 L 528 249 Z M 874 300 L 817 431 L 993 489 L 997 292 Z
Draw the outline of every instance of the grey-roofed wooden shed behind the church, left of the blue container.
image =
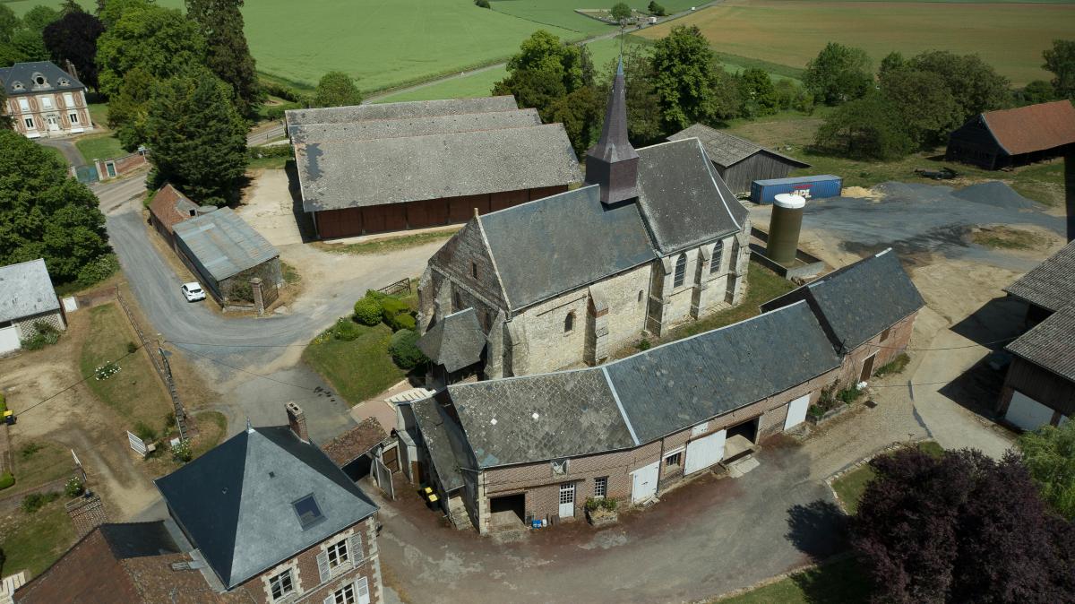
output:
M 750 183 L 764 178 L 784 178 L 792 170 L 809 168 L 809 163 L 765 148 L 708 126 L 696 124 L 669 136 L 670 141 L 697 138 L 705 155 L 733 192 L 745 193 Z

